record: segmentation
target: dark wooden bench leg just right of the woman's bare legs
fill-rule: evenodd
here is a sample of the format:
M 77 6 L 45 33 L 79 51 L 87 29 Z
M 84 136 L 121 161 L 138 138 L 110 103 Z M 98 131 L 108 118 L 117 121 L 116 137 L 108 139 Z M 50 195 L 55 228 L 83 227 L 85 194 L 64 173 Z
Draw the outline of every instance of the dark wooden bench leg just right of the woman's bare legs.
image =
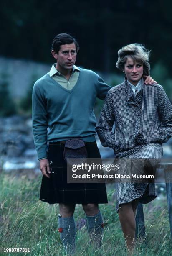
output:
M 136 215 L 136 238 L 144 238 L 145 236 L 143 205 L 139 203 Z

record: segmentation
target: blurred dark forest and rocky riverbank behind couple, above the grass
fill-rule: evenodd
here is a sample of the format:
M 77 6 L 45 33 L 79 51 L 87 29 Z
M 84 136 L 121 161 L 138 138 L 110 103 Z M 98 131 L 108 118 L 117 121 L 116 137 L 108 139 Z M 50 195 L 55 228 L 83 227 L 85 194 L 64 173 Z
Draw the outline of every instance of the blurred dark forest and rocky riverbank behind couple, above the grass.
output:
M 130 43 L 151 53 L 151 76 L 172 100 L 172 3 L 169 0 L 7 0 L 0 3 L 0 156 L 6 171 L 39 171 L 31 130 L 34 82 L 55 62 L 51 42 L 70 33 L 79 45 L 76 65 L 92 69 L 111 86 L 123 82 L 117 51 Z M 96 118 L 102 106 L 97 100 Z M 103 157 L 113 151 L 101 147 Z M 164 157 L 172 155 L 171 141 Z

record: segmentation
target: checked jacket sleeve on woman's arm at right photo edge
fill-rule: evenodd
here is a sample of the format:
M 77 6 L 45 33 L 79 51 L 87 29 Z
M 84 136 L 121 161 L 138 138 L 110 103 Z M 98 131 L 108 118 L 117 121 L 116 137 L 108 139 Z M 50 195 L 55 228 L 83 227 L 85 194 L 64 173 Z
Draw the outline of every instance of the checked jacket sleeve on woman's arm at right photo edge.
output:
M 172 104 L 163 87 L 160 88 L 158 113 L 161 120 L 159 135 L 161 143 L 167 142 L 172 136 Z

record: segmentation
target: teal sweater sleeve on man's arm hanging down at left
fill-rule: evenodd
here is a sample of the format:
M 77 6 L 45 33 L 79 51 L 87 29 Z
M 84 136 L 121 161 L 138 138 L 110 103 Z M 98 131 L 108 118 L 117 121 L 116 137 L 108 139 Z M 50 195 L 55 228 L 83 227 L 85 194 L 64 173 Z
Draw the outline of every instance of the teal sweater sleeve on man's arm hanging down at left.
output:
M 32 123 L 38 160 L 47 158 L 48 118 L 46 112 L 46 99 L 37 82 L 34 84 L 32 94 Z

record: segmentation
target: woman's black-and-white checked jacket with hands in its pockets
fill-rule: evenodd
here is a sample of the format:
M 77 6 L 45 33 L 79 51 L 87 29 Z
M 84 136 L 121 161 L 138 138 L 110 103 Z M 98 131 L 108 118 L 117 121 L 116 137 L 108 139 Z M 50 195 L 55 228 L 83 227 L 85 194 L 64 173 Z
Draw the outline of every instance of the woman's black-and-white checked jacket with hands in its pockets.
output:
M 107 92 L 96 131 L 102 145 L 113 148 L 115 154 L 138 145 L 162 144 L 172 136 L 171 102 L 161 85 L 144 81 L 134 97 L 125 80 Z

